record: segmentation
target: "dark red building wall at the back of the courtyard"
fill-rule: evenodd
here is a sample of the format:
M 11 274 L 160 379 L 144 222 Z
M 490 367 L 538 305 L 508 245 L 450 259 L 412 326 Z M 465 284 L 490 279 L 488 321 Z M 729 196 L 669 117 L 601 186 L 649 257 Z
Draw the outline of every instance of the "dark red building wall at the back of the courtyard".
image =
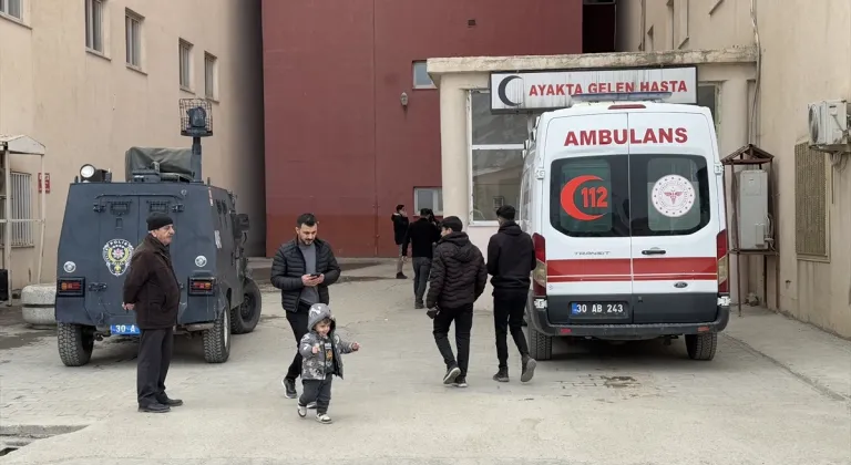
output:
M 438 90 L 412 90 L 413 61 L 582 52 L 582 0 L 264 0 L 263 23 L 269 256 L 304 211 L 339 256 L 396 255 L 393 207 L 441 185 Z

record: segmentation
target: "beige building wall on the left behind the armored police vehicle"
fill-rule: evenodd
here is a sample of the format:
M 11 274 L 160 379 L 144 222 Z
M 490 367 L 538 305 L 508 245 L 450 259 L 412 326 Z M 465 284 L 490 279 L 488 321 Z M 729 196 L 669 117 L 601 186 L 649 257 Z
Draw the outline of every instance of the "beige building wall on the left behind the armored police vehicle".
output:
M 203 176 L 234 190 L 252 220 L 249 254 L 263 254 L 263 82 L 259 1 L 105 0 L 104 54 L 86 51 L 83 0 L 21 0 L 22 23 L 0 17 L 0 134 L 25 134 L 47 147 L 43 282 L 55 279 L 57 244 L 69 183 L 91 163 L 124 178 L 124 152 L 188 146 L 180 135 L 178 99 L 204 97 L 204 53 L 217 56 L 214 135 L 203 141 Z M 125 8 L 144 17 L 142 71 L 125 64 Z M 178 39 L 194 44 L 193 92 L 180 89 Z M 38 161 L 13 157 L 33 174 Z M 38 228 L 37 228 L 38 232 Z M 180 234 L 180 231 L 178 231 Z M 35 235 L 38 245 L 38 234 Z M 34 248 L 14 249 L 13 287 L 35 278 Z

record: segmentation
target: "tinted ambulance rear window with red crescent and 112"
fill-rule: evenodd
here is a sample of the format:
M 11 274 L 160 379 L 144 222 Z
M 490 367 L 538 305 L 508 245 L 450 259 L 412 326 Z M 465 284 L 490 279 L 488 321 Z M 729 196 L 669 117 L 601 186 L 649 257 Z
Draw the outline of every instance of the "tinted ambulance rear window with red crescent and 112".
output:
M 561 158 L 551 166 L 550 224 L 571 237 L 629 237 L 628 155 Z

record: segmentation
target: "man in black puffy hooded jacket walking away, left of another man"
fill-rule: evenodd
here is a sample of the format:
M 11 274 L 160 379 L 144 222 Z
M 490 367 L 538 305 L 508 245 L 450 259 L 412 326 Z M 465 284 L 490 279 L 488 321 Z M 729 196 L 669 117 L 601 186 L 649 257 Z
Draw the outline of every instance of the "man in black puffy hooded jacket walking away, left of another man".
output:
M 434 248 L 426 306 L 429 308 L 427 314 L 434 319 L 434 342 L 447 364 L 443 384 L 466 388 L 473 302 L 484 292 L 488 269 L 481 250 L 470 242 L 462 229 L 461 219 L 457 216 L 444 218 L 441 224 L 442 237 Z M 458 361 L 448 338 L 453 321 Z

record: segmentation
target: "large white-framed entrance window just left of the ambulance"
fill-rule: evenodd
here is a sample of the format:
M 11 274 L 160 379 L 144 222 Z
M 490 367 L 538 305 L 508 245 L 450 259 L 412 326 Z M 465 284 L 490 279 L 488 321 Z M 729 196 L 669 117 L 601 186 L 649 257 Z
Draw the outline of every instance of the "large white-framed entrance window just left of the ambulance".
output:
M 470 224 L 496 221 L 496 208 L 520 206 L 525 114 L 492 114 L 488 91 L 470 92 Z

